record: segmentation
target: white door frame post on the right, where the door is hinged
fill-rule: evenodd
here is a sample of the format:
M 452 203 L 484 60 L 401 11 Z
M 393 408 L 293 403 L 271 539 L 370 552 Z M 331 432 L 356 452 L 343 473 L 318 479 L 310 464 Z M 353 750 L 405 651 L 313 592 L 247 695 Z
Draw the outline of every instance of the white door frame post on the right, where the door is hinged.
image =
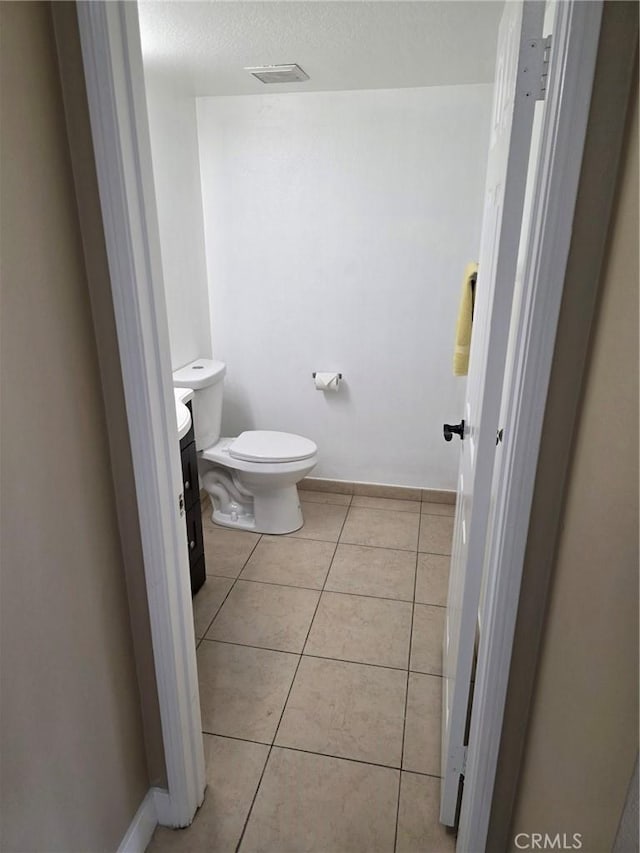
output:
M 591 106 L 601 0 L 559 2 L 552 33 L 523 300 L 506 395 L 502 464 L 485 563 L 459 851 L 483 850 L 493 798 L 522 568 Z M 500 426 L 503 426 L 501 424 Z

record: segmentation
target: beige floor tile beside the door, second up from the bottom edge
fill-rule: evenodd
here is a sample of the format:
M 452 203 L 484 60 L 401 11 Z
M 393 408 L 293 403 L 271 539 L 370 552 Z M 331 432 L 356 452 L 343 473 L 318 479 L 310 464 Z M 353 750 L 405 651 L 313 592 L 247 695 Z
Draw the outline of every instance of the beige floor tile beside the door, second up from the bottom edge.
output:
M 441 717 L 442 679 L 410 672 L 403 770 L 440 775 Z

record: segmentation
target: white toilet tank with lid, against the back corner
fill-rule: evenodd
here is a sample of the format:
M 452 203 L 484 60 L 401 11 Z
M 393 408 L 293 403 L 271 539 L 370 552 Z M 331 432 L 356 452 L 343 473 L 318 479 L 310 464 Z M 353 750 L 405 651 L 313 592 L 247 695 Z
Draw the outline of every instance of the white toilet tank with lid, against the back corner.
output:
M 193 390 L 191 407 L 196 450 L 211 447 L 220 438 L 222 389 L 224 385 L 222 380 L 226 369 L 226 365 L 222 361 L 197 358 L 173 374 L 175 388 L 191 388 Z

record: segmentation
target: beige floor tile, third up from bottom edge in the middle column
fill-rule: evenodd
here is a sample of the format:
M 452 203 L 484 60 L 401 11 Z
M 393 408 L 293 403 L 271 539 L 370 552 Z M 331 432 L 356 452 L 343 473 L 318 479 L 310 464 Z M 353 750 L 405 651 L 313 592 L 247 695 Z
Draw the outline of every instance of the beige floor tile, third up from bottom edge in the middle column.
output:
M 406 669 L 411 607 L 408 601 L 323 592 L 305 654 Z

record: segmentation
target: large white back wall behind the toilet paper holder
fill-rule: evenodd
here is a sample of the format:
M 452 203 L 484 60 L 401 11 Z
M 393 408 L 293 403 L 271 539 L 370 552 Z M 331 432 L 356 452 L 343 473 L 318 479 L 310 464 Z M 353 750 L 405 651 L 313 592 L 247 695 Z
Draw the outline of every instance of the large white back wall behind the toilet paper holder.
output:
M 313 475 L 453 489 L 452 376 L 492 87 L 199 98 L 223 429 L 317 442 Z M 314 370 L 339 370 L 338 394 Z

